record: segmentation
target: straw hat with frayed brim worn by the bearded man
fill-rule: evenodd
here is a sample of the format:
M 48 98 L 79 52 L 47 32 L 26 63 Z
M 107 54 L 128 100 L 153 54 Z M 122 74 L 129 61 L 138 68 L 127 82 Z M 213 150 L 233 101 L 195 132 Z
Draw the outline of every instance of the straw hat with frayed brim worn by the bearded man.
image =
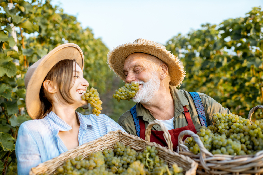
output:
M 128 55 L 140 52 L 156 56 L 168 66 L 168 72 L 171 77 L 170 84 L 178 87 L 185 77 L 184 66 L 180 60 L 166 50 L 163 45 L 146 39 L 136 39 L 133 43 L 124 43 L 115 47 L 108 53 L 108 65 L 122 80 L 125 81 L 123 73 L 124 61 Z

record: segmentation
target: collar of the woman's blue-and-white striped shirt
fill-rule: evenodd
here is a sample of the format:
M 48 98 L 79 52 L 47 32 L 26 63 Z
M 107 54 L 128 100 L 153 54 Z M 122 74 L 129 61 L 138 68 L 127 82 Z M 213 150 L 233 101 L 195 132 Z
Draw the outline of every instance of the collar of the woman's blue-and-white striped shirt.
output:
M 84 115 L 82 115 L 81 113 L 78 113 L 76 112 L 77 115 L 78 115 L 78 119 L 79 119 L 79 123 L 80 123 L 80 127 L 83 128 L 83 129 L 87 129 L 87 125 L 91 125 L 92 126 L 92 123 L 91 121 L 85 117 Z M 49 119 L 51 119 L 56 128 L 59 130 L 59 131 L 69 131 L 72 129 L 71 126 L 69 126 L 67 124 L 67 122 L 65 122 L 64 120 L 62 120 L 59 116 L 57 116 L 53 111 L 51 111 L 50 113 L 47 114 L 47 116 L 45 116 Z

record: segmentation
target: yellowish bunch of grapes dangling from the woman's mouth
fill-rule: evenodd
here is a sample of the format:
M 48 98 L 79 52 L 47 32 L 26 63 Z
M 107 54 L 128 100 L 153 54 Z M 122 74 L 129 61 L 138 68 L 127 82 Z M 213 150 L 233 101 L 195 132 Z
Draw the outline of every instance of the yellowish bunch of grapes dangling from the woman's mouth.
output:
M 81 96 L 82 100 L 87 100 L 92 109 L 92 114 L 96 114 L 99 116 L 102 110 L 102 101 L 99 98 L 99 93 L 97 92 L 97 89 L 94 89 L 93 87 L 90 88 L 90 90 L 87 90 L 85 95 Z

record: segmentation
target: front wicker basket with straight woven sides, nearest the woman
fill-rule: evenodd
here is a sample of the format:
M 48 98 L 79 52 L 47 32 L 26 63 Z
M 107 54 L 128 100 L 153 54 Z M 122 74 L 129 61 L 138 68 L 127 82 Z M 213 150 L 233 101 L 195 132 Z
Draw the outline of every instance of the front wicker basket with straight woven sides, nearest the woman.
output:
M 154 123 L 155 124 L 155 123 Z M 151 125 L 152 126 L 152 125 Z M 150 127 L 150 126 L 149 126 Z M 168 133 L 169 134 L 169 133 Z M 145 136 L 149 138 L 149 133 Z M 167 133 L 166 133 L 167 136 Z M 167 136 L 168 138 L 169 136 Z M 169 139 L 168 139 L 169 140 Z M 124 145 L 128 145 L 138 152 L 143 152 L 147 145 L 155 146 L 158 150 L 158 156 L 168 162 L 169 167 L 172 164 L 177 163 L 178 166 L 183 168 L 183 173 L 186 175 L 196 174 L 196 169 L 198 164 L 191 158 L 179 155 L 178 153 L 168 149 L 167 147 L 162 147 L 154 142 L 147 142 L 140 137 L 124 133 L 120 130 L 109 132 L 108 134 L 88 143 L 85 143 L 75 149 L 69 150 L 60 154 L 51 160 L 39 164 L 37 167 L 31 168 L 29 172 L 30 175 L 39 175 L 42 173 L 52 174 L 56 168 L 63 165 L 64 161 L 68 158 L 75 158 L 76 156 L 83 155 L 83 159 L 88 156 L 91 152 L 102 151 L 105 148 L 113 149 L 114 144 L 117 142 L 123 142 Z M 169 141 L 168 141 L 169 142 Z M 170 143 L 168 144 L 171 145 Z M 172 148 L 172 145 L 171 147 Z

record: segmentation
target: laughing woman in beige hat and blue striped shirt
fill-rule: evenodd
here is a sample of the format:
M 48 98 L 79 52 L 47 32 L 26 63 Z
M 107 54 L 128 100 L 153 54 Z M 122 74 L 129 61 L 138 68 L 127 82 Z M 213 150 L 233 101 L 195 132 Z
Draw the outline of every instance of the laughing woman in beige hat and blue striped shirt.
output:
M 79 46 L 62 44 L 29 67 L 25 86 L 27 112 L 16 142 L 18 174 L 61 153 L 95 140 L 109 131 L 123 130 L 108 116 L 82 115 L 81 96 L 89 83 L 83 77 L 84 56 Z

